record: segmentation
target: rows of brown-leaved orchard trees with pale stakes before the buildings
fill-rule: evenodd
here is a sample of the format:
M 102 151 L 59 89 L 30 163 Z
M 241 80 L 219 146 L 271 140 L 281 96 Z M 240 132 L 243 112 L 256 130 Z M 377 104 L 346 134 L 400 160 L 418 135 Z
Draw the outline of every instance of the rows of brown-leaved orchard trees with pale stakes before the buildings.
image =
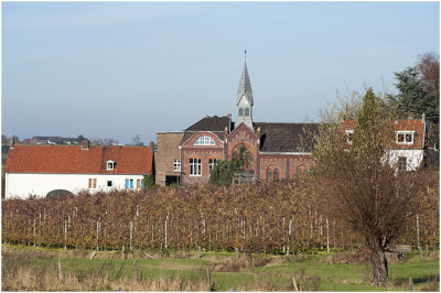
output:
M 324 192 L 309 180 L 8 199 L 2 203 L 2 240 L 99 250 L 301 252 L 357 247 L 355 231 L 329 213 Z M 426 186 L 416 194 L 424 213 L 410 221 L 400 242 L 422 248 L 439 243 L 438 193 L 437 186 Z

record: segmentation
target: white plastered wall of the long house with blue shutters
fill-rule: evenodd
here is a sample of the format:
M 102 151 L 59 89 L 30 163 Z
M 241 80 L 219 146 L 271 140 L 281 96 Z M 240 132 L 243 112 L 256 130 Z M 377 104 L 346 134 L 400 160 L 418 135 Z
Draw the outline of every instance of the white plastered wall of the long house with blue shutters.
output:
M 96 188 L 89 189 L 89 178 L 96 178 Z M 133 180 L 133 188 L 137 187 L 137 180 L 142 175 L 109 175 L 109 174 L 6 174 L 6 198 L 26 198 L 30 195 L 40 197 L 46 196 L 54 189 L 66 189 L 73 194 L 80 189 L 90 192 L 110 191 L 111 188 L 126 188 L 126 180 Z M 107 187 L 107 181 L 112 182 L 112 187 Z

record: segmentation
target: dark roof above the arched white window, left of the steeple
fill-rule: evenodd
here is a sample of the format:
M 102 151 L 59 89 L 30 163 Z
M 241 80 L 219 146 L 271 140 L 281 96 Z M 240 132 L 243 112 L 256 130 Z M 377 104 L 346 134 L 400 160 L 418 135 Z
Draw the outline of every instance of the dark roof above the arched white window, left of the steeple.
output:
M 189 127 L 184 131 L 184 137 L 182 138 L 182 143 L 187 141 L 194 133 L 200 131 L 211 131 L 216 134 L 220 140 L 224 140 L 225 128 L 228 128 L 229 117 L 228 116 L 213 116 L 205 117 Z

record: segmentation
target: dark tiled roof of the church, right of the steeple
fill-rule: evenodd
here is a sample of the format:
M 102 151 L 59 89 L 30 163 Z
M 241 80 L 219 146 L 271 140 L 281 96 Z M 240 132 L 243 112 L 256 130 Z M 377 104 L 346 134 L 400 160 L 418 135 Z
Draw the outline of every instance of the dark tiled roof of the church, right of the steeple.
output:
M 259 127 L 261 152 L 311 152 L 312 141 L 302 139 L 304 130 L 312 133 L 319 130 L 318 123 L 254 123 L 255 131 Z

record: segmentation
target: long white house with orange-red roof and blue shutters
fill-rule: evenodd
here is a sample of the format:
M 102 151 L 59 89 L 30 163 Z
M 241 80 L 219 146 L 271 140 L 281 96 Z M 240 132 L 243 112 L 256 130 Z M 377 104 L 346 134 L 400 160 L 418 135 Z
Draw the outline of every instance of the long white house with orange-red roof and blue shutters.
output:
M 149 146 L 14 145 L 6 167 L 6 198 L 46 196 L 60 189 L 79 191 L 141 188 L 143 175 L 152 173 Z M 65 193 L 65 192 L 64 192 Z M 52 193 L 53 194 L 53 193 Z

